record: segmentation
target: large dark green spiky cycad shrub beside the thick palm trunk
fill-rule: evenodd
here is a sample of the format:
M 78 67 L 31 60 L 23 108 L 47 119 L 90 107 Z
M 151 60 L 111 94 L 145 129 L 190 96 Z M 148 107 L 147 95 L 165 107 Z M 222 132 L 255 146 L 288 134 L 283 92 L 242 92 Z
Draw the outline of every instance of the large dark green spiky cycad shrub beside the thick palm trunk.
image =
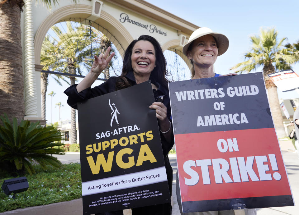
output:
M 42 127 L 39 122 L 23 120 L 11 123 L 6 114 L 0 116 L 0 168 L 10 171 L 35 173 L 31 162 L 35 161 L 43 169 L 50 164 L 61 167 L 61 162 L 50 154 L 64 154 L 62 149 L 52 148 L 63 145 L 62 136 L 53 126 Z

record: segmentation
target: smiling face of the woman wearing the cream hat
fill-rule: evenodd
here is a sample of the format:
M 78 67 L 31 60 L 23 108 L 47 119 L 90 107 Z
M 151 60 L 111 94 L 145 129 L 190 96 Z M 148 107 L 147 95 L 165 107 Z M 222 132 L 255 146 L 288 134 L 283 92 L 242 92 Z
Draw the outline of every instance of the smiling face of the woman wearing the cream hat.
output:
M 192 60 L 194 66 L 209 67 L 217 59 L 218 48 L 212 35 L 204 35 L 192 43 L 192 48 L 187 51 L 187 57 Z

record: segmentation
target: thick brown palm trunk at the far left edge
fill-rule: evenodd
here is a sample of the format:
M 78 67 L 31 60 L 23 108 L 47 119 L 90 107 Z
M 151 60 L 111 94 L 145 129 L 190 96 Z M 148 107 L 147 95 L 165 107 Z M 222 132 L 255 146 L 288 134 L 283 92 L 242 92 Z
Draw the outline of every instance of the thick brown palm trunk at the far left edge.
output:
M 24 76 L 21 48 L 21 11 L 6 2 L 0 8 L 0 115 L 24 119 Z

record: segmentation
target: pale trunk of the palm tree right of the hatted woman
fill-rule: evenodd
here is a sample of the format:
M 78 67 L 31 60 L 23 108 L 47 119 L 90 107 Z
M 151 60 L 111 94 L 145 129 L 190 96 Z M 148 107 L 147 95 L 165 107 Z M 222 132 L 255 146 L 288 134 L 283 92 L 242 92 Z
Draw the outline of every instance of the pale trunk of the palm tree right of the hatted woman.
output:
M 271 109 L 275 130 L 278 138 L 283 138 L 287 136 L 287 134 L 284 131 L 283 118 L 277 94 L 277 87 L 268 77 L 268 74 L 271 74 L 273 72 L 275 72 L 275 68 L 271 63 L 263 67 L 264 80 L 266 88 L 268 90 L 269 106 Z

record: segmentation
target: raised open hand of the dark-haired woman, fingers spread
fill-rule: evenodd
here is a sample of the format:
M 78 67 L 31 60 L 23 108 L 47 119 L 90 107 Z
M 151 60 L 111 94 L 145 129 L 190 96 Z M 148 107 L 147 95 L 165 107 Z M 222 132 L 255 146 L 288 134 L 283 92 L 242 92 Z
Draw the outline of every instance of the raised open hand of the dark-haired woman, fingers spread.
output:
M 91 66 L 91 71 L 97 75 L 100 75 L 101 72 L 107 67 L 108 63 L 111 61 L 112 57 L 114 56 L 114 52 L 109 55 L 111 47 L 109 46 L 105 54 L 101 53 L 98 57 L 94 56 L 94 62 Z

